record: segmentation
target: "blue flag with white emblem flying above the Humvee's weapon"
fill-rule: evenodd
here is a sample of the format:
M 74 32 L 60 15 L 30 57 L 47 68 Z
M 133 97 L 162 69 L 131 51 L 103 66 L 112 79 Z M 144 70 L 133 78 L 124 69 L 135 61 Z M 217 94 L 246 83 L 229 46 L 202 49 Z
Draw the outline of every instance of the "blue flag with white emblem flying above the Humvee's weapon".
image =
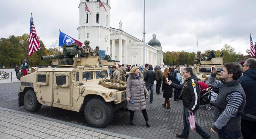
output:
M 77 45 L 80 47 L 83 45 L 83 43 L 81 43 L 80 41 L 75 40 L 72 37 L 69 37 L 69 35 L 66 35 L 65 33 L 60 31 L 59 46 L 63 46 L 63 44 L 71 45 L 73 43 L 77 43 Z

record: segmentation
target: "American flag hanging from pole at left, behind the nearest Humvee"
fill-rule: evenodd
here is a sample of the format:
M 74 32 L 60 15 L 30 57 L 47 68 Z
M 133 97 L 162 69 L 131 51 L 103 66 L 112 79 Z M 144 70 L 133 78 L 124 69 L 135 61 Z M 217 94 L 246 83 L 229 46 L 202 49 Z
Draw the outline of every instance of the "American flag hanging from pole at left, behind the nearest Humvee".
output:
M 30 18 L 30 33 L 29 33 L 29 43 L 28 43 L 28 55 L 31 56 L 34 52 L 40 49 L 39 40 L 36 34 L 36 28 L 34 26 L 32 13 Z

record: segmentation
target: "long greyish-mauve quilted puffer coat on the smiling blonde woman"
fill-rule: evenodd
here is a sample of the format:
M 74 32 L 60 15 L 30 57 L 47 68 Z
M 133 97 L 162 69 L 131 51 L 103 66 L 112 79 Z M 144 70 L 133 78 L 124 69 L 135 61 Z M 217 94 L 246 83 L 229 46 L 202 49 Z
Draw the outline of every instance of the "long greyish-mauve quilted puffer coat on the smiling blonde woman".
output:
M 130 97 L 134 104 L 127 102 L 128 110 L 144 110 L 146 109 L 146 100 L 144 94 L 148 92 L 143 81 L 143 75 L 137 79 L 134 73 L 129 73 L 127 79 L 126 96 Z

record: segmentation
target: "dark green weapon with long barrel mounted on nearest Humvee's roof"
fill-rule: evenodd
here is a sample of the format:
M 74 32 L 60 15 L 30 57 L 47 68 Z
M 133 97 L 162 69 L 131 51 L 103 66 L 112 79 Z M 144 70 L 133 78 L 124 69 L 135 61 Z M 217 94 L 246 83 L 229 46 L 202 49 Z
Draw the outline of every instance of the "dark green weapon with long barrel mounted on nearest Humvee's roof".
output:
M 50 55 L 50 56 L 41 56 L 41 60 L 49 59 L 62 59 L 61 64 L 63 65 L 72 65 L 74 63 L 73 58 L 78 54 L 80 55 L 82 48 L 77 44 L 72 45 L 63 45 L 63 55 Z

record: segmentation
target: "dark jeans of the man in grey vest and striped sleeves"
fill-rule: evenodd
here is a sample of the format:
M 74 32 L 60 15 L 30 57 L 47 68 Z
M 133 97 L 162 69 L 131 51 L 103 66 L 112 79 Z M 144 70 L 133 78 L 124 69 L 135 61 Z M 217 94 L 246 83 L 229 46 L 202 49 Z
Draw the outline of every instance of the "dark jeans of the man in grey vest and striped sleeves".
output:
M 226 131 L 224 129 L 220 129 L 218 132 L 219 139 L 238 139 L 240 135 L 241 131 Z

